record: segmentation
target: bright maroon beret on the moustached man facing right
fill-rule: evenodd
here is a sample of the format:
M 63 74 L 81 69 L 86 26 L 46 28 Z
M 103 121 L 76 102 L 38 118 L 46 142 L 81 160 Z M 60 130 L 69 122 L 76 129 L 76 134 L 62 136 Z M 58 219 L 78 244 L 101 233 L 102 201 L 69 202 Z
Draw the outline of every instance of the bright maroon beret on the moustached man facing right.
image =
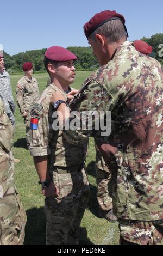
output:
M 76 60 L 77 56 L 67 49 L 60 46 L 52 46 L 45 52 L 45 57 L 55 62 L 66 62 L 67 60 Z

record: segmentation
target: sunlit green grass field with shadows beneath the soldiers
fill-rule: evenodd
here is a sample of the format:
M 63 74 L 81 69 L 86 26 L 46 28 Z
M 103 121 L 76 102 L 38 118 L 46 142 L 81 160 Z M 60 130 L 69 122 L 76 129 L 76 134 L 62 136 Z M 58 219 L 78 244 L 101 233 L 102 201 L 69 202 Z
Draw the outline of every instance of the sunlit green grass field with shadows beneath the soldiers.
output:
M 77 72 L 76 81 L 72 84 L 74 88 L 80 88 L 84 79 L 91 74 L 91 71 Z M 11 76 L 12 92 L 15 99 L 17 81 L 22 75 Z M 48 74 L 35 74 L 38 80 L 40 92 L 46 86 Z M 38 176 L 34 167 L 33 158 L 26 149 L 26 129 L 21 114 L 16 109 L 16 132 L 14 136 L 14 157 L 21 162 L 15 164 L 15 181 L 20 192 L 22 203 L 26 209 L 27 224 L 25 245 L 45 245 L 45 216 L 43 213 L 44 198 L 38 184 Z M 90 200 L 85 211 L 82 224 L 79 230 L 81 245 L 117 245 L 118 224 L 112 224 L 98 217 L 98 204 L 96 200 L 96 178 L 95 178 L 95 148 L 93 139 L 89 142 L 89 157 L 86 166 L 90 181 Z

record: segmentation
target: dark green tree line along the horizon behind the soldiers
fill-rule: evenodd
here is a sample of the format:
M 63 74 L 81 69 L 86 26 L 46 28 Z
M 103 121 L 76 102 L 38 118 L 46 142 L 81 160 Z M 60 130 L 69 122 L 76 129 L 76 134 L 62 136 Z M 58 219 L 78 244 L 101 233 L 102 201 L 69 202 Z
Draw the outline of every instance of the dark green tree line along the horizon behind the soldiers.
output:
M 162 54 L 161 47 L 163 49 L 163 34 L 158 33 L 152 35 L 151 38 L 143 37 L 141 40 L 147 42 L 153 47 L 152 57 L 159 60 L 161 65 L 163 65 L 163 50 Z M 161 46 L 162 44 L 162 46 Z M 159 48 L 160 47 L 160 48 Z M 92 54 L 91 47 L 67 47 L 67 50 L 76 54 L 78 60 L 75 62 L 76 70 L 96 70 L 98 68 L 98 62 L 95 56 Z M 43 72 L 45 68 L 43 66 L 43 56 L 46 48 L 41 50 L 31 50 L 26 52 L 20 52 L 16 55 L 10 56 L 4 53 L 5 58 L 5 68 L 10 72 L 10 74 L 22 71 L 22 64 L 24 62 L 32 62 L 35 71 Z

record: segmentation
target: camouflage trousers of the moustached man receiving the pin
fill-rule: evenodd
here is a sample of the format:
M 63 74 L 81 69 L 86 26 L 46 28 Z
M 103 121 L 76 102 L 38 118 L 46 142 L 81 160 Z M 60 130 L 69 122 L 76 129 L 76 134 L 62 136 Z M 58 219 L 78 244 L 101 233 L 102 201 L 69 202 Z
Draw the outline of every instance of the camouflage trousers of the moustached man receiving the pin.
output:
M 78 245 L 78 230 L 89 200 L 85 168 L 68 173 L 53 170 L 57 198 L 45 199 L 46 244 Z

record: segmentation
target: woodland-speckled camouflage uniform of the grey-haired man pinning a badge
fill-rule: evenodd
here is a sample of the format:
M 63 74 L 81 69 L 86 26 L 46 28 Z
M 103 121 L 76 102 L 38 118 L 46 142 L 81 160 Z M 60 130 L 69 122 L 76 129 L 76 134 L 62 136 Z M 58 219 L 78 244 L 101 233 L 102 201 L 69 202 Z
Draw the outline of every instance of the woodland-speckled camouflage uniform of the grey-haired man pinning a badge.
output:
M 72 111 L 103 111 L 105 119 L 106 111 L 111 111 L 110 136 L 102 137 L 94 127 L 64 131 L 72 143 L 90 135 L 108 144 L 112 203 L 121 239 L 140 245 L 163 244 L 162 88 L 159 62 L 123 42 L 71 102 Z

